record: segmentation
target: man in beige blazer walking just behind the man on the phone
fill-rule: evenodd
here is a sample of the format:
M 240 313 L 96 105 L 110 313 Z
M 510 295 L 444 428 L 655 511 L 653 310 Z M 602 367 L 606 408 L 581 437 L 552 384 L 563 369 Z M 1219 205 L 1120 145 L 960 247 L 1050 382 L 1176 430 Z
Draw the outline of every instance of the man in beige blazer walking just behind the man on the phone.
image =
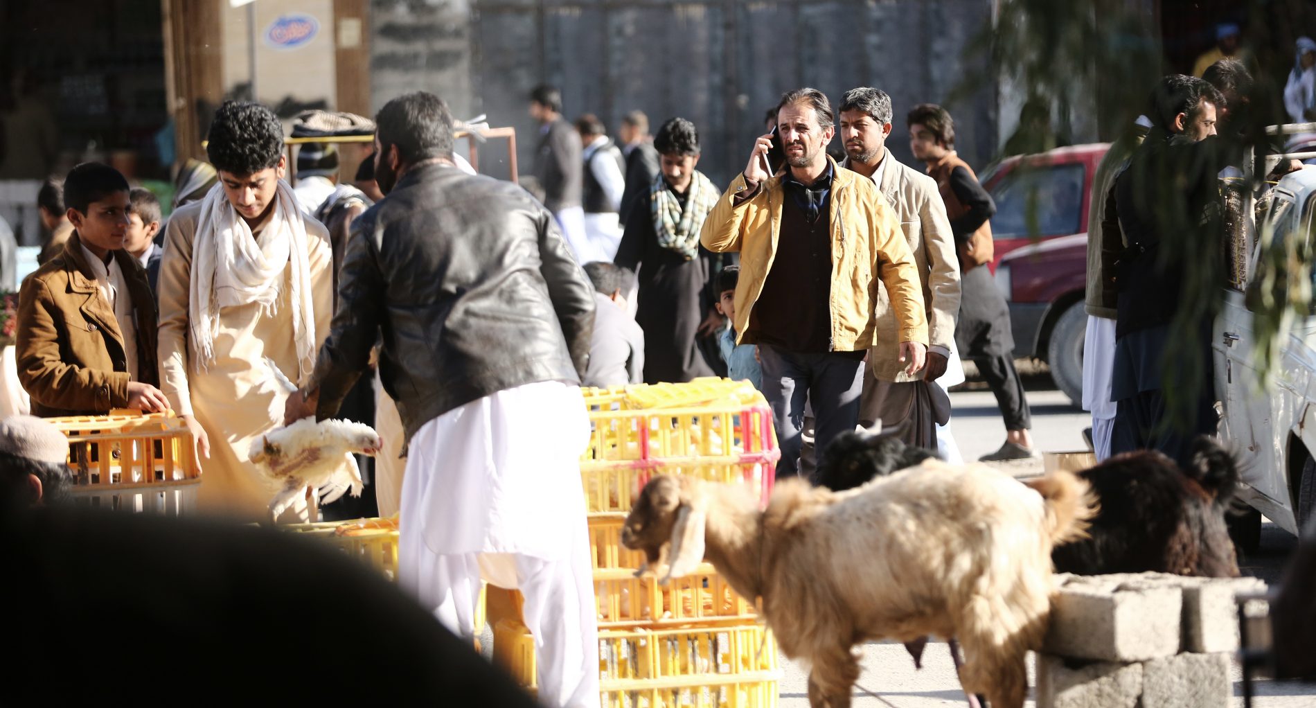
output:
M 876 336 L 865 368 L 859 421 L 882 421 L 905 443 L 937 449 L 937 424 L 950 417 L 950 399 L 933 382 L 946 372 L 959 312 L 959 265 L 955 240 L 937 183 L 905 167 L 886 147 L 891 134 L 891 97 L 876 88 L 853 88 L 841 100 L 845 167 L 870 178 L 895 208 L 913 253 L 928 312 L 928 366 L 905 372 L 896 343 L 896 318 L 882 290 L 876 301 Z M 941 436 L 949 438 L 949 429 Z M 948 445 L 953 446 L 953 443 Z

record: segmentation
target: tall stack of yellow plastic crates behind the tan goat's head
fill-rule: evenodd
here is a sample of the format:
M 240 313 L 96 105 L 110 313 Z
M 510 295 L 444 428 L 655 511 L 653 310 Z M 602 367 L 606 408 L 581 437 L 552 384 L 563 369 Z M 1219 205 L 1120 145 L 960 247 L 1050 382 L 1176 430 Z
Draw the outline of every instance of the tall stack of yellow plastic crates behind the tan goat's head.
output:
M 778 653 L 753 599 L 708 563 L 666 587 L 636 578 L 644 554 L 621 526 L 653 475 L 746 484 L 767 500 L 776 471 L 771 409 L 747 383 L 587 390 L 592 437 L 580 461 L 590 509 L 603 705 L 761 708 L 776 705 Z M 533 644 L 501 625 L 504 666 L 533 686 Z

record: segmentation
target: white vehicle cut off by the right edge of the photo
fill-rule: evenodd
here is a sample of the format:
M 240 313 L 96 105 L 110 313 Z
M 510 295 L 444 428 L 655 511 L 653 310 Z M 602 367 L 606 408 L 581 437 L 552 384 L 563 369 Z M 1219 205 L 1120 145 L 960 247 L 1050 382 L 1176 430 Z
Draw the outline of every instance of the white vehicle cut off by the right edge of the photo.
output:
M 1240 497 L 1271 521 L 1296 534 L 1316 515 L 1316 309 L 1295 317 L 1279 342 L 1275 366 L 1261 384 L 1254 359 L 1257 341 L 1248 288 L 1266 250 L 1303 240 L 1308 257 L 1316 242 L 1316 167 L 1286 175 L 1250 238 L 1246 279 L 1225 291 L 1215 326 L 1216 391 L 1223 404 L 1220 433 L 1240 455 Z M 1270 261 L 1274 262 L 1274 261 Z M 1304 268 L 1278 274 L 1291 287 L 1311 287 Z M 1259 522 L 1259 518 L 1257 518 Z

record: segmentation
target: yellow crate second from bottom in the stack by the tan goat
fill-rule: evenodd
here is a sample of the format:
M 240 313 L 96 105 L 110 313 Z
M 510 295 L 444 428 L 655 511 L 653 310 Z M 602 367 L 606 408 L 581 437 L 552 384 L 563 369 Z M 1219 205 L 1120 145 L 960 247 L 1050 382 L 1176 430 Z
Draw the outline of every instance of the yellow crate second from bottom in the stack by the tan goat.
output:
M 636 578 L 632 570 L 595 571 L 594 596 L 600 629 L 755 617 L 754 604 L 737 595 L 709 563 L 666 586 L 654 576 Z

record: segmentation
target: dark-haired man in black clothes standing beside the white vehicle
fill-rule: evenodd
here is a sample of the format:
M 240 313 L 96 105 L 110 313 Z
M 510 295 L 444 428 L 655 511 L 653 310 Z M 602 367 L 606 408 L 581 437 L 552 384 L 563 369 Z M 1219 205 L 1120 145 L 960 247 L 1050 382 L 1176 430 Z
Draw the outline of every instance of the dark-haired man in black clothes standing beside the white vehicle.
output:
M 1209 83 L 1165 76 L 1152 105 L 1155 125 L 1115 183 L 1125 249 L 1115 267 L 1111 454 L 1159 450 L 1188 465 L 1192 441 L 1219 424 L 1208 368 L 1225 284 L 1217 175 L 1236 147 L 1216 132 L 1224 100 Z

